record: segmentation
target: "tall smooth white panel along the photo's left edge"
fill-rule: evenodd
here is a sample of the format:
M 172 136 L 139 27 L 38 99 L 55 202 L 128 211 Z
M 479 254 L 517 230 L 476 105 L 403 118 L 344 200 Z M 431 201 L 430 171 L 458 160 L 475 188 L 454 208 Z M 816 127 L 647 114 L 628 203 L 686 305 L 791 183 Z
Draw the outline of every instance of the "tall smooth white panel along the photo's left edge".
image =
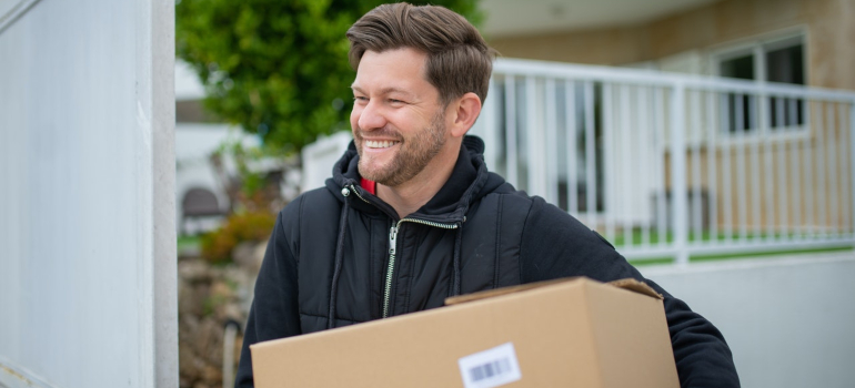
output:
M 0 30 L 0 384 L 178 385 L 173 13 L 42 0 Z

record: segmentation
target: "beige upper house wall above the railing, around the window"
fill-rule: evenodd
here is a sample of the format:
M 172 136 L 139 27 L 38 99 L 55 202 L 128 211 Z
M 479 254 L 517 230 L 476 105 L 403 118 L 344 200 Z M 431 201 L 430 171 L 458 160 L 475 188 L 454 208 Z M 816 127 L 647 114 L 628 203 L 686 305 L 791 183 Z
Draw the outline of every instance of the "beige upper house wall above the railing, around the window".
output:
M 724 0 L 646 24 L 487 39 L 509 58 L 620 65 L 807 30 L 808 83 L 855 90 L 855 0 Z

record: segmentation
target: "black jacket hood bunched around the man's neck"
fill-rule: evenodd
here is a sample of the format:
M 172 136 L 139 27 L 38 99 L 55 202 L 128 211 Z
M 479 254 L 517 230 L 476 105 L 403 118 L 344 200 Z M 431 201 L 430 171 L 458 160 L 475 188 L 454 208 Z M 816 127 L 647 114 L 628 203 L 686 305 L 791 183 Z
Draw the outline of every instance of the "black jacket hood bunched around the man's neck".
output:
M 505 184 L 501 176 L 487 172 L 483 153 L 484 142 L 477 136 L 466 135 L 449 181 L 413 216 L 440 223 L 462 221 L 474 201 Z M 348 151 L 333 166 L 332 177 L 326 180 L 326 188 L 340 201 L 348 201 L 342 193 L 344 188 L 355 191 L 363 201 L 353 201 L 351 206 L 368 213 L 383 212 L 398 219 L 392 206 L 360 186 L 358 165 L 359 154 L 351 141 Z

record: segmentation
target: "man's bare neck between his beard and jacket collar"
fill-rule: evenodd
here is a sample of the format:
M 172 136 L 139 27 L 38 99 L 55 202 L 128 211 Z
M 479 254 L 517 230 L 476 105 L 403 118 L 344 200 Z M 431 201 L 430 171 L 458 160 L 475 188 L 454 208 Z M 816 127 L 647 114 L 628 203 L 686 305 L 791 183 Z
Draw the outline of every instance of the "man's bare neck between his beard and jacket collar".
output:
M 457 163 L 459 155 L 459 147 L 445 147 L 413 178 L 398 186 L 378 183 L 378 196 L 390 204 L 401 218 L 415 213 L 445 185 Z

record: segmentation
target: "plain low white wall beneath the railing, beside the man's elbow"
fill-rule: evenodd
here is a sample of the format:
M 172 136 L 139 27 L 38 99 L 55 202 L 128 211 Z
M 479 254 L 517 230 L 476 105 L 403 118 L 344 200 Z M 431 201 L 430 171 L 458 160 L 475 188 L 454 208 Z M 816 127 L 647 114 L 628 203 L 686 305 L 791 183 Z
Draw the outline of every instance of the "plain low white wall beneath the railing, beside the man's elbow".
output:
M 718 327 L 743 387 L 853 386 L 853 251 L 641 269 Z

